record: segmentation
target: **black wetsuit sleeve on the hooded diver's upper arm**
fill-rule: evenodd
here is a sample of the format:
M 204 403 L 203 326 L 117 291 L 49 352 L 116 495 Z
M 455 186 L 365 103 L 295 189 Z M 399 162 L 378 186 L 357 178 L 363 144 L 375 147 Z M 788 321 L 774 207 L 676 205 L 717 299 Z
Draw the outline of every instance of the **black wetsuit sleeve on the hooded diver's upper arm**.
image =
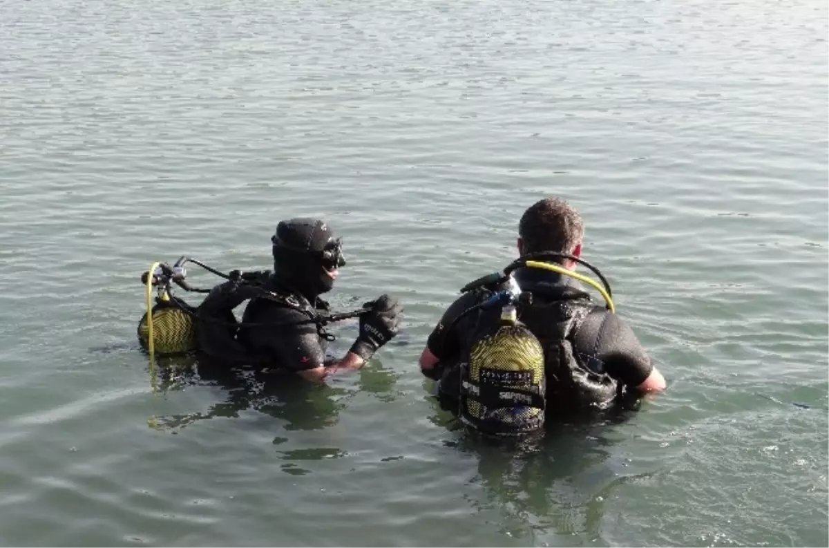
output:
M 308 319 L 308 315 L 284 307 L 260 310 L 246 322 L 281 323 Z M 288 371 L 306 371 L 322 366 L 325 348 L 313 323 L 284 327 L 251 327 L 247 341 L 261 361 Z

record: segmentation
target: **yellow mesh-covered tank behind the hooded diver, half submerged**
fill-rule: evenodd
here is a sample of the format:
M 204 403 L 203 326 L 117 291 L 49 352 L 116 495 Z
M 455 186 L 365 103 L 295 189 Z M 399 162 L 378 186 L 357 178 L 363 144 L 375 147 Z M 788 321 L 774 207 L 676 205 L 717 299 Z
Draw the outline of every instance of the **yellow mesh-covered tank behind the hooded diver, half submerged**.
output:
M 170 301 L 173 298 L 176 299 L 176 303 Z M 185 312 L 182 308 L 191 313 Z M 177 297 L 169 297 L 167 300 L 157 298 L 151 313 L 153 344 L 158 355 L 176 356 L 196 350 L 196 319 L 192 316 L 195 308 Z M 148 349 L 147 313 L 138 321 L 138 342 L 144 350 Z

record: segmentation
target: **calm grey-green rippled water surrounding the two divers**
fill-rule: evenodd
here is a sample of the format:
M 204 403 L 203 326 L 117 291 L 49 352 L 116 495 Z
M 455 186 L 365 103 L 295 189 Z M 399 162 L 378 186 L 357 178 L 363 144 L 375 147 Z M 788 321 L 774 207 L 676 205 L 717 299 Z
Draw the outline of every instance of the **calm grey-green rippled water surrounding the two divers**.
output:
M 827 546 L 824 0 L 0 14 L 3 547 Z M 416 361 L 542 196 L 670 387 L 511 455 Z M 141 272 L 269 268 L 300 215 L 344 236 L 334 306 L 394 293 L 400 337 L 325 387 L 150 368 Z

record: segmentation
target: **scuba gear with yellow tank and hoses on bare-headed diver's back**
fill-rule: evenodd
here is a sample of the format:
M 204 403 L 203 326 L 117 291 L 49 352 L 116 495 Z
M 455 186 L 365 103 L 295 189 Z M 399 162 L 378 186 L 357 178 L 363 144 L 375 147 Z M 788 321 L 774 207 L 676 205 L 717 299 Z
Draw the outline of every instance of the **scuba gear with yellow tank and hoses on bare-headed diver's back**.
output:
M 584 265 L 601 280 L 601 284 L 556 264 L 564 259 Z M 566 340 L 574 326 L 584 319 L 587 308 L 576 306 L 569 310 L 565 303 L 567 299 L 550 305 L 541 303 L 538 309 L 524 306 L 531 305 L 532 293 L 522 291 L 512 276 L 517 269 L 523 268 L 548 270 L 588 284 L 602 294 L 608 311 L 615 312 L 610 285 L 599 269 L 567 253 L 543 251 L 523 255 L 502 272 L 487 274 L 464 286 L 462 293 L 482 291 L 481 301 L 463 311 L 446 331 L 451 331 L 468 313 L 478 312 L 472 337 L 463 342 L 465 354 L 458 367 L 460 374 L 454 378 L 461 385 L 460 418 L 482 433 L 531 433 L 543 428 L 545 411 L 548 407 L 559 407 L 565 400 L 562 395 L 584 393 L 592 400 L 609 400 L 615 390 L 614 381 L 606 382 L 608 376 L 597 375 L 579 364 Z M 589 300 L 586 293 L 578 293 Z M 517 321 L 516 303 L 522 303 L 521 315 L 526 324 Z M 498 305 L 503 307 L 500 320 L 493 309 Z M 552 313 L 545 310 L 549 307 L 553 307 Z M 538 337 L 545 342 L 543 346 Z M 551 342 L 555 342 L 555 347 Z M 545 363 L 545 350 L 549 363 Z M 551 375 L 549 387 L 546 371 Z M 555 405 L 547 405 L 548 393 Z

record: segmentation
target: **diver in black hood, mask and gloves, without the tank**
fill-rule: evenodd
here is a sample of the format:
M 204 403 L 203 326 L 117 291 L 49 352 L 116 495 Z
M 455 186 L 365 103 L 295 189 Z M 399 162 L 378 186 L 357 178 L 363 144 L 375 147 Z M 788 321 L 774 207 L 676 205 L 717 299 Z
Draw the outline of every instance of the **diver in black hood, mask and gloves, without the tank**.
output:
M 342 240 L 324 221 L 294 218 L 279 222 L 271 238 L 274 272 L 259 274 L 258 288 L 246 293 L 244 284 L 233 281 L 214 288 L 199 307 L 202 352 L 221 361 L 244 361 L 255 366 L 295 372 L 313 382 L 335 371 L 356 371 L 398 332 L 402 306 L 382 295 L 364 307 L 360 334 L 341 360 L 326 358 L 326 343 L 332 337 L 313 322 L 327 303 L 327 293 L 346 264 Z M 241 289 L 240 289 L 241 288 Z M 263 291 L 264 289 L 264 291 Z M 227 332 L 215 318 L 229 318 L 232 309 L 249 299 L 242 327 Z M 228 337 L 230 334 L 230 337 Z

